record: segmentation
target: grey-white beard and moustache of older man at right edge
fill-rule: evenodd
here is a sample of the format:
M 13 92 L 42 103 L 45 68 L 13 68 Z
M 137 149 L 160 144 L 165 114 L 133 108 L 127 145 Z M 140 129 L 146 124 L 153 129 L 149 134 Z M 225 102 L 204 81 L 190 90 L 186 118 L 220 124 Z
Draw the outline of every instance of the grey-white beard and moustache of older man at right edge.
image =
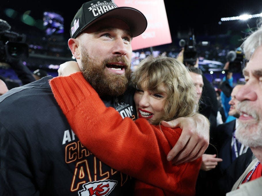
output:
M 259 116 L 261 112 L 249 103 L 250 101 L 239 102 L 237 109 L 252 115 L 255 121 L 243 123 L 239 120 L 238 127 L 236 127 L 236 138 L 245 146 L 255 148 L 262 146 L 262 122 Z

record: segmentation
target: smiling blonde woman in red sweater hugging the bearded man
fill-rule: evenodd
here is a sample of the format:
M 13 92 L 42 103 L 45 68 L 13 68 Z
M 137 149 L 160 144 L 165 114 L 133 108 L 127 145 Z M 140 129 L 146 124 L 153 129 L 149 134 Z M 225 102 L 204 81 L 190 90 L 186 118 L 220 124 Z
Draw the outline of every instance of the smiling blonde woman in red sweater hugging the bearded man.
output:
M 65 69 L 73 66 L 60 65 L 59 75 L 68 75 L 70 71 Z M 170 57 L 149 56 L 141 61 L 132 73 L 138 116 L 133 122 L 107 108 L 77 64 L 75 67 L 71 73 L 76 70 L 77 74 L 55 77 L 50 85 L 81 143 L 109 166 L 137 178 L 134 195 L 194 195 L 201 158 L 178 166 L 161 158 L 177 141 L 181 129 L 160 126 L 160 122 L 192 116 L 197 108 L 198 95 L 187 68 Z M 75 87 L 70 88 L 72 85 Z M 113 138 L 118 138 L 120 145 L 115 145 Z M 148 141 L 150 145 L 145 145 Z

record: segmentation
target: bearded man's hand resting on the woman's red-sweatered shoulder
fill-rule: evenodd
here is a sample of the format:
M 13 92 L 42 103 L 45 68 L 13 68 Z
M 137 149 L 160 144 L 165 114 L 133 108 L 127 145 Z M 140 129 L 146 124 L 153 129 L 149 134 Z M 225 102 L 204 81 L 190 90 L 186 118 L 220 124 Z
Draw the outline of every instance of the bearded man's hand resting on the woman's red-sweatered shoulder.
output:
M 210 123 L 206 117 L 201 114 L 195 114 L 193 117 L 181 117 L 161 124 L 176 128 L 180 127 L 183 131 L 176 145 L 167 155 L 167 160 L 175 165 L 190 162 L 200 158 L 209 144 Z

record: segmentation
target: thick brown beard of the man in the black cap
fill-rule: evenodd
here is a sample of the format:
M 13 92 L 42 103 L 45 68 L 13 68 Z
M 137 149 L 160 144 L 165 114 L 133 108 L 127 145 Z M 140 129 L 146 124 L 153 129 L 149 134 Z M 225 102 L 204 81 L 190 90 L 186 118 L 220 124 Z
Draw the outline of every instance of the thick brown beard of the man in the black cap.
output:
M 100 59 L 90 59 L 86 50 L 82 51 L 81 71 L 85 79 L 96 90 L 99 96 L 119 96 L 123 94 L 129 83 L 131 68 L 130 62 L 125 57 L 113 57 L 105 59 L 100 63 Z M 106 71 L 108 63 L 123 62 L 125 65 L 125 74 L 114 74 Z

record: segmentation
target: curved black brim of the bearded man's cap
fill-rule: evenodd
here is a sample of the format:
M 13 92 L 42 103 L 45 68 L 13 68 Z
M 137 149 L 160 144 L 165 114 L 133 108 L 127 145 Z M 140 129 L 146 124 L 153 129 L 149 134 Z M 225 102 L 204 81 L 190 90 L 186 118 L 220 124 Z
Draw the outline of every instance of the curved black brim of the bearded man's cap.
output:
M 142 34 L 147 28 L 147 19 L 143 13 L 132 7 L 117 7 L 109 10 L 84 26 L 81 31 L 88 28 L 95 22 L 105 18 L 118 18 L 126 22 L 130 28 L 133 37 Z

